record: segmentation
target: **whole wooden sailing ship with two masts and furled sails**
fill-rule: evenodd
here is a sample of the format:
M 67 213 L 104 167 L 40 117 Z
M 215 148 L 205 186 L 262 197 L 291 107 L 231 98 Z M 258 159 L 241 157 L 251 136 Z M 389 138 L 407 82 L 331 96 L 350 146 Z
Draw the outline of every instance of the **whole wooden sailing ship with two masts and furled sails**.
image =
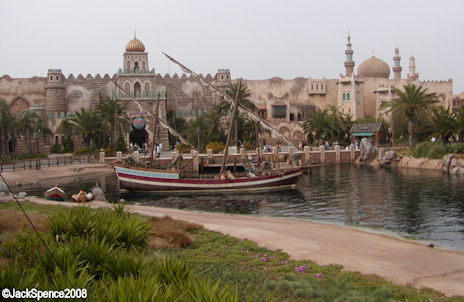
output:
M 166 55 L 166 54 L 165 54 Z M 201 177 L 183 177 L 182 171 L 177 169 L 172 170 L 161 170 L 161 169 L 152 169 L 153 163 L 153 150 L 150 152 L 150 162 L 149 167 L 137 167 L 133 164 L 125 163 L 114 163 L 113 167 L 115 169 L 116 175 L 119 180 L 119 186 L 123 189 L 128 189 L 132 191 L 152 191 L 157 193 L 171 193 L 171 192 L 185 192 L 185 193 L 225 193 L 225 192 L 263 192 L 275 189 L 288 189 L 295 188 L 298 177 L 302 174 L 301 169 L 291 169 L 291 170 L 256 170 L 253 173 L 249 172 L 242 177 L 235 177 L 230 171 L 225 169 L 227 156 L 228 156 L 228 147 L 230 145 L 231 130 L 233 125 L 233 117 L 235 116 L 236 110 L 248 114 L 252 119 L 261 122 L 261 124 L 266 128 L 274 132 L 276 135 L 281 137 L 283 140 L 293 145 L 286 137 L 280 134 L 277 130 L 274 129 L 269 123 L 262 120 L 255 113 L 249 111 L 247 108 L 241 106 L 237 102 L 238 92 L 240 91 L 241 81 L 239 81 L 239 89 L 237 90 L 237 95 L 235 99 L 229 97 L 222 90 L 218 89 L 211 83 L 198 77 L 190 69 L 186 68 L 184 65 L 180 64 L 173 58 L 166 55 L 171 61 L 178 64 L 185 72 L 192 74 L 197 79 L 200 79 L 202 82 L 205 82 L 206 85 L 210 86 L 218 93 L 224 96 L 224 98 L 233 105 L 233 112 L 231 115 L 231 120 L 227 133 L 227 141 L 224 152 L 224 158 L 221 166 L 221 171 L 216 177 L 206 177 L 202 175 Z M 128 92 L 126 92 L 122 87 L 117 83 L 116 86 L 126 93 L 139 107 L 140 110 L 143 110 L 142 106 L 133 98 Z M 176 131 L 174 131 L 169 125 L 164 122 L 158 116 L 158 106 L 156 108 L 155 115 L 155 131 L 156 133 L 158 123 L 163 127 L 167 128 L 169 132 L 177 136 L 181 142 L 193 147 L 187 140 L 180 136 Z M 151 114 L 151 113 L 149 113 Z M 154 136 L 153 136 L 154 137 Z M 154 142 L 152 146 L 154 146 Z

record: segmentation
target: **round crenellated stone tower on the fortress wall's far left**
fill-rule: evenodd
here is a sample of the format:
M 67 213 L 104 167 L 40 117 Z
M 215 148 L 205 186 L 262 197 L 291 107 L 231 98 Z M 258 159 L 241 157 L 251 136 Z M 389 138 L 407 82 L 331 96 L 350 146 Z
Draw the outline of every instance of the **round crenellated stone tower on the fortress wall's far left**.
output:
M 49 69 L 45 86 L 45 112 L 66 113 L 64 76 L 61 69 Z

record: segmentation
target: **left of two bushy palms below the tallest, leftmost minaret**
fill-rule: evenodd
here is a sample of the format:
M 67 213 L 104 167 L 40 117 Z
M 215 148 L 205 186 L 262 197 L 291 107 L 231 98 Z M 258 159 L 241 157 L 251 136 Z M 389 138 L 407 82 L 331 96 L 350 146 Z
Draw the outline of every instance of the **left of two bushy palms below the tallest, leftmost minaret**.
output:
M 323 140 L 332 140 L 334 136 L 334 124 L 329 110 L 322 111 L 317 108 L 303 124 L 303 130 L 308 136 L 310 143 L 321 143 Z

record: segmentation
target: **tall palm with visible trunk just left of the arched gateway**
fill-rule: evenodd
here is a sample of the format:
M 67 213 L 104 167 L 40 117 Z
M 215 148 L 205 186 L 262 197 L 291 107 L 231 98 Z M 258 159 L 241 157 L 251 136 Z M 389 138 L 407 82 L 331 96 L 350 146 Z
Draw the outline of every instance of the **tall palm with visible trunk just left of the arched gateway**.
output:
M 130 126 L 125 112 L 127 106 L 117 99 L 108 98 L 96 106 L 97 114 L 111 132 L 111 150 L 116 150 L 116 135 Z

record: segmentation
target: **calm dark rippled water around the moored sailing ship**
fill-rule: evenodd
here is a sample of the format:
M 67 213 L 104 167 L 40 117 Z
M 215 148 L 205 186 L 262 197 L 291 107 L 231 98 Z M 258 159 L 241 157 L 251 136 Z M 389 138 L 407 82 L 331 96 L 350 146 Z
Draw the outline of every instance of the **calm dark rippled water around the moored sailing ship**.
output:
M 350 225 L 464 250 L 464 177 L 441 172 L 328 166 L 303 175 L 298 190 L 251 195 L 119 194 L 115 177 L 103 181 L 112 200 Z

